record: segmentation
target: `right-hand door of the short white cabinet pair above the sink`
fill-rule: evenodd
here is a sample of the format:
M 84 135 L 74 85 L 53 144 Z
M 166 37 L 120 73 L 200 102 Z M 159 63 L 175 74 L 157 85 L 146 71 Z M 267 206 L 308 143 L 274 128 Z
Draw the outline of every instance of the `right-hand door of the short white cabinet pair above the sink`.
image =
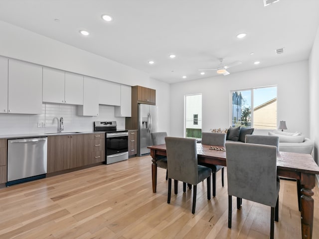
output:
M 83 105 L 83 76 L 65 72 L 65 103 Z

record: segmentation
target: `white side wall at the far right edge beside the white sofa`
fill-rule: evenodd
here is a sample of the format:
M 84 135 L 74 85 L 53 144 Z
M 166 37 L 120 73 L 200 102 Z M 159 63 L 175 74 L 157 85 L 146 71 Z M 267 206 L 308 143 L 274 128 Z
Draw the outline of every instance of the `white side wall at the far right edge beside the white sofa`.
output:
M 315 141 L 314 158 L 319 164 L 319 27 L 309 57 L 310 128 L 311 139 Z

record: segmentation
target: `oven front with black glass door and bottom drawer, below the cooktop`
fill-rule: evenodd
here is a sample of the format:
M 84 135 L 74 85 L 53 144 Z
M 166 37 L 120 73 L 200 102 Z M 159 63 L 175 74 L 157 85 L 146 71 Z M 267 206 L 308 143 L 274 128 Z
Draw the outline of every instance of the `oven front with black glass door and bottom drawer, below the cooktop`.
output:
M 106 164 L 123 161 L 129 158 L 129 133 L 106 133 Z

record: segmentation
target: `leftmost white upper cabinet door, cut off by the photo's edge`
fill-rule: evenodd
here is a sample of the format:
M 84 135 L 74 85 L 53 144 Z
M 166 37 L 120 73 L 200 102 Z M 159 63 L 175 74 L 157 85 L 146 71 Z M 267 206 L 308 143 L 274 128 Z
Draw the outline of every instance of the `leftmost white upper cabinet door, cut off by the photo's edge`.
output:
M 8 111 L 8 59 L 0 57 L 0 113 Z

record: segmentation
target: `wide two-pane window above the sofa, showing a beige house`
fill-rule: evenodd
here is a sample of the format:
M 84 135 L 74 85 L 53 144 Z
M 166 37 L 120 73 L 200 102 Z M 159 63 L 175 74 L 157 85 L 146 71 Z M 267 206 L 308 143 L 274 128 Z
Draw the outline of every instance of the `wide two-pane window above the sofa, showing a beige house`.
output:
M 277 128 L 277 86 L 232 92 L 232 125 Z

